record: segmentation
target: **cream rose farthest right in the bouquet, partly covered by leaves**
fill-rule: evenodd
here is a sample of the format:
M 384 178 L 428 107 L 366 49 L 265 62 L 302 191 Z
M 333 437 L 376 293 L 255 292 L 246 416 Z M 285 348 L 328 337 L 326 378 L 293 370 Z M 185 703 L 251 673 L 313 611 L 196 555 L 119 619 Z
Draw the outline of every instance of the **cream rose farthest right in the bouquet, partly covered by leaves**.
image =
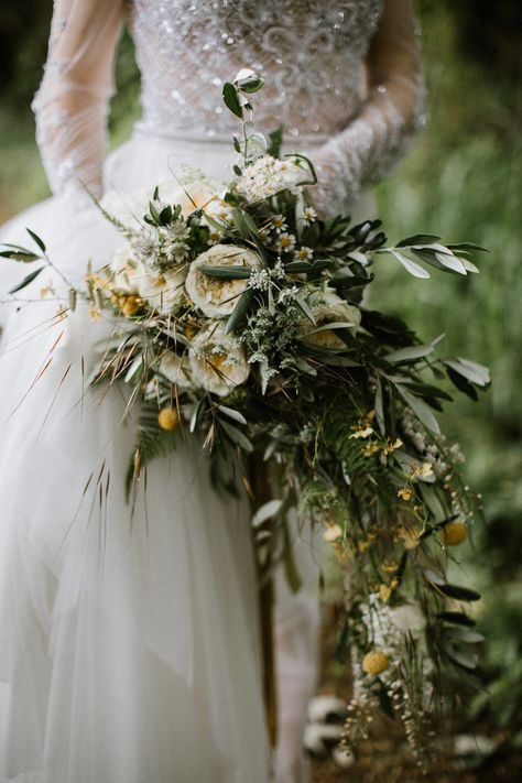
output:
M 323 328 L 317 331 L 317 328 L 327 324 L 346 323 L 349 324 L 347 328 L 355 335 L 361 323 L 359 308 L 341 300 L 331 289 L 314 295 L 308 300 L 308 304 L 314 314 L 316 326 L 307 318 L 303 319 L 301 325 L 303 340 L 317 348 L 345 348 L 345 342 L 336 334 L 335 329 Z

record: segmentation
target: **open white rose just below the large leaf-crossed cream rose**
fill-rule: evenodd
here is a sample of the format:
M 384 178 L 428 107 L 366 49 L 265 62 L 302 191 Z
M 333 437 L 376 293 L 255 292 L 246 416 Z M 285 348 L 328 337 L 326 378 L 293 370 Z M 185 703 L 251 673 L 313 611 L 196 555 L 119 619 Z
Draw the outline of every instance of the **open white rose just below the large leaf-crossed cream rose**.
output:
M 249 365 L 242 348 L 214 324 L 194 338 L 189 350 L 191 371 L 195 383 L 213 394 L 226 396 L 244 383 Z

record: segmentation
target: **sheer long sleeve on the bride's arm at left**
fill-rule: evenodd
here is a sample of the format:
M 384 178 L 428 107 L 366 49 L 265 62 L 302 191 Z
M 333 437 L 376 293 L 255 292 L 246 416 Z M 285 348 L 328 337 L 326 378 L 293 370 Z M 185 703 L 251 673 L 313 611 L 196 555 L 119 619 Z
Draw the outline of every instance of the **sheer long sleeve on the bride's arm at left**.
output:
M 101 193 L 106 118 L 123 0 L 54 0 L 44 77 L 33 101 L 53 193 Z

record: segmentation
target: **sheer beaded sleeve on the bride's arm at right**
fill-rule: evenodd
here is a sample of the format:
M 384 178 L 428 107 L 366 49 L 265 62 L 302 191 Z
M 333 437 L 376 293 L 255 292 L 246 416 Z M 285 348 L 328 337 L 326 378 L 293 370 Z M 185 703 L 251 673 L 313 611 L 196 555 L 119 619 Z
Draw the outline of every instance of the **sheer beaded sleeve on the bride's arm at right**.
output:
M 412 0 L 385 0 L 368 53 L 368 97 L 359 113 L 316 155 L 316 202 L 329 214 L 382 180 L 424 123 L 424 83 Z

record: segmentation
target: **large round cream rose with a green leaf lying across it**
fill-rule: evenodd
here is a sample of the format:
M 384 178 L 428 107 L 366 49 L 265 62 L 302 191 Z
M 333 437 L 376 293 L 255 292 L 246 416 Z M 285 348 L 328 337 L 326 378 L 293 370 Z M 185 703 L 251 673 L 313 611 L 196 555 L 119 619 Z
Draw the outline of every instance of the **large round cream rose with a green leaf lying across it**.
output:
M 200 271 L 202 267 L 246 267 L 260 265 L 257 253 L 235 244 L 215 244 L 197 257 L 188 270 L 186 290 L 196 307 L 204 315 L 225 318 L 235 308 L 238 296 L 248 287 L 247 280 L 222 280 L 210 278 Z

